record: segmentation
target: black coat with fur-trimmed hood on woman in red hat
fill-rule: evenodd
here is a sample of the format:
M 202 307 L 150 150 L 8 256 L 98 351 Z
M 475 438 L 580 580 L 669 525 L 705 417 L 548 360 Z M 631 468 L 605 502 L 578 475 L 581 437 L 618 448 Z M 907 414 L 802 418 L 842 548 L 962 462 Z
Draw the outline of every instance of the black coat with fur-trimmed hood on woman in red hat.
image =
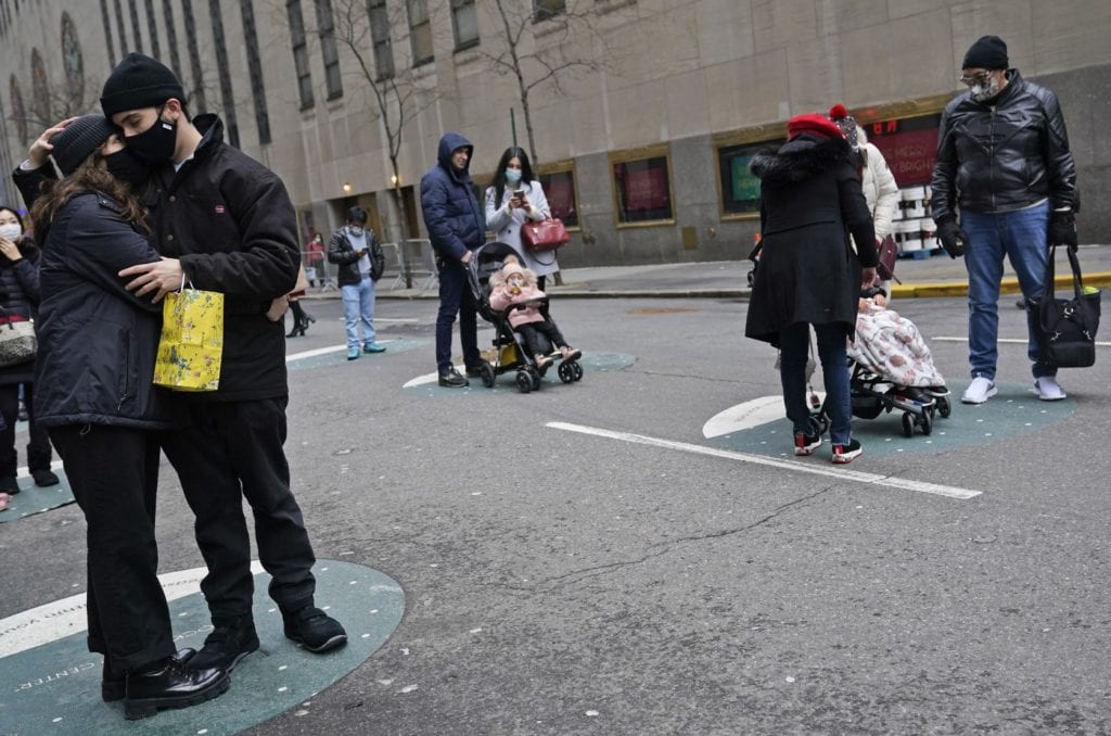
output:
M 795 322 L 839 322 L 853 335 L 860 269 L 874 267 L 878 258 L 850 152 L 843 138 L 803 133 L 752 159 L 762 237 L 747 337 L 779 345 L 779 331 Z

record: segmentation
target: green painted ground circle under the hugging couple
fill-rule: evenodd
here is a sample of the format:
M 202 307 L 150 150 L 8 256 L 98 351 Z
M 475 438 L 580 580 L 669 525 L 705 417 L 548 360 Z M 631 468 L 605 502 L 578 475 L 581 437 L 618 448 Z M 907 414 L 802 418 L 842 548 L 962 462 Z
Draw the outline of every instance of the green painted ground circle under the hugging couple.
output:
M 198 571 L 198 577 L 203 570 Z M 100 699 L 101 657 L 86 647 L 86 631 L 59 633 L 24 652 L 0 659 L 0 713 L 4 733 L 47 734 L 232 734 L 297 708 L 312 710 L 313 696 L 367 660 L 390 637 L 404 613 L 404 593 L 390 577 L 351 563 L 317 560 L 317 605 L 327 606 L 348 633 L 348 644 L 312 654 L 282 634 L 281 614 L 267 596 L 269 576 L 254 580 L 254 624 L 261 648 L 246 657 L 231 675 L 227 693 L 201 705 L 160 710 L 140 722 L 123 718 L 122 703 Z M 172 594 L 167 586 L 168 594 Z M 13 616 L 0 621 L 4 637 L 42 636 L 57 619 L 72 615 L 83 596 L 59 601 L 59 610 L 36 609 L 31 620 Z M 170 601 L 176 645 L 200 649 L 211 631 L 208 607 L 199 593 Z M 51 621 L 51 619 L 56 619 Z M 40 630 L 33 631 L 34 627 Z M 74 627 L 76 628 L 76 627 Z M 398 683 L 398 689 L 404 686 Z

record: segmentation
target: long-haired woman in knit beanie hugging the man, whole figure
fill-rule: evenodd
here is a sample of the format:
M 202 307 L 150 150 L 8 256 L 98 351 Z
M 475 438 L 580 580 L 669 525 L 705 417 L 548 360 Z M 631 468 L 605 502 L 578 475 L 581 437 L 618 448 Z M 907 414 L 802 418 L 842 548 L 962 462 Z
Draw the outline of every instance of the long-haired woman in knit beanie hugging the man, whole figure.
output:
M 51 143 L 64 178 L 31 208 L 42 249 L 36 405 L 88 526 L 89 649 L 104 655 L 101 695 L 142 718 L 216 697 L 228 674 L 178 658 L 158 580 L 160 439 L 182 422 L 174 397 L 152 384 L 162 305 L 119 277 L 159 259 L 141 205 L 112 176 L 134 173 L 136 160 L 99 115 L 73 120 Z

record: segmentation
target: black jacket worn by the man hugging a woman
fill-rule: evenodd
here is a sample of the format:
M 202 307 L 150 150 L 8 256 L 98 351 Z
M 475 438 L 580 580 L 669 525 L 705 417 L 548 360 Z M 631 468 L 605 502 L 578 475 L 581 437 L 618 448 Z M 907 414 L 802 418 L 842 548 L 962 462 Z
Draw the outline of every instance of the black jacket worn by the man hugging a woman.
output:
M 144 203 L 154 247 L 181 260 L 198 289 L 224 296 L 220 389 L 191 400 L 287 396 L 286 335 L 266 317 L 271 301 L 297 285 L 301 257 L 297 217 L 282 180 L 223 142 L 214 115 L 193 119 L 203 139 L 174 172 L 154 172 Z

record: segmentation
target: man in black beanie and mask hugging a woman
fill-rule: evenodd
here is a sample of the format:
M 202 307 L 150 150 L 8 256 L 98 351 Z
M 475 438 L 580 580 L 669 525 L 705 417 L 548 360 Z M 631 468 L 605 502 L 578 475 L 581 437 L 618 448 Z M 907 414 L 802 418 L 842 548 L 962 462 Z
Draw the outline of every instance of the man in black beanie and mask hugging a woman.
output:
M 314 605 L 316 558 L 282 449 L 286 335 L 267 312 L 274 300 L 286 301 L 300 265 L 286 187 L 223 142 L 217 116 L 190 120 L 178 78 L 150 57 L 129 53 L 109 76 L 100 102 L 128 149 L 151 168 L 146 203 L 163 258 L 123 269 L 128 288 L 157 300 L 186 278 L 224 295 L 220 387 L 183 395 L 192 426 L 163 446 L 197 516 L 197 543 L 209 568 L 201 590 L 213 631 L 189 665 L 230 670 L 259 648 L 244 497 L 286 636 L 310 652 L 342 646 L 343 627 Z

